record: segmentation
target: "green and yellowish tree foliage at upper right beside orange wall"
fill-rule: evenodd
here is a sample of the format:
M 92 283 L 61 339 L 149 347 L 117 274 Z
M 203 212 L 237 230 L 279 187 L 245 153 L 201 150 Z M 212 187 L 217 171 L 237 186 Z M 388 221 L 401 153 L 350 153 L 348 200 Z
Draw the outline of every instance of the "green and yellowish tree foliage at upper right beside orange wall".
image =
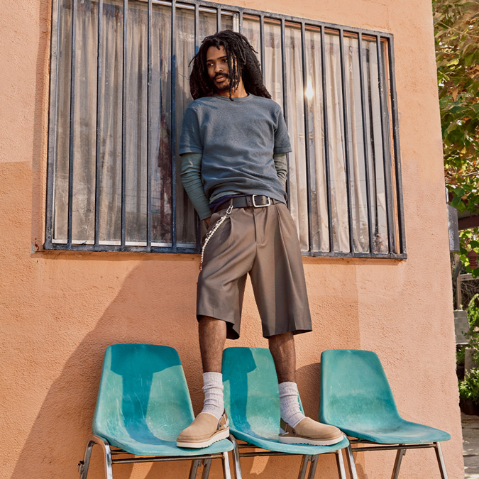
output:
M 444 171 L 451 206 L 479 214 L 479 1 L 432 0 Z M 479 239 L 461 234 L 461 260 Z M 476 245 L 468 240 L 474 239 Z

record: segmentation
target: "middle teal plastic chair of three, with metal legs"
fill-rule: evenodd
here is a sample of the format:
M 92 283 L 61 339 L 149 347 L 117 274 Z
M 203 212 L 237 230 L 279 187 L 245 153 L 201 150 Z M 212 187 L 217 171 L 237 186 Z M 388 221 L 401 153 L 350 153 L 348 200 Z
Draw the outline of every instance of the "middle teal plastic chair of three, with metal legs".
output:
M 351 454 L 346 437 L 333 446 L 282 444 L 280 432 L 280 398 L 275 364 L 269 349 L 226 348 L 223 352 L 223 385 L 231 441 L 235 444 L 236 478 L 241 478 L 240 458 L 244 456 L 302 455 L 299 479 L 314 478 L 319 454 L 334 453 L 340 478 L 346 479 L 342 449 Z M 246 444 L 238 444 L 236 439 Z M 263 451 L 240 452 L 244 448 Z M 357 478 L 356 473 L 352 476 Z

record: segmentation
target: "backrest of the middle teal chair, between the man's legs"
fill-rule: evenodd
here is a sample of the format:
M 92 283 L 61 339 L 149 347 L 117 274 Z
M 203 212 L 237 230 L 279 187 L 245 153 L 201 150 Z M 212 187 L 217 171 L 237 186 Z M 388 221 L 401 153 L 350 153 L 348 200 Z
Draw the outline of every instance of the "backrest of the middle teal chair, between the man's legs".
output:
M 223 352 L 226 413 L 231 429 L 277 437 L 280 425 L 275 363 L 267 348 L 226 348 Z

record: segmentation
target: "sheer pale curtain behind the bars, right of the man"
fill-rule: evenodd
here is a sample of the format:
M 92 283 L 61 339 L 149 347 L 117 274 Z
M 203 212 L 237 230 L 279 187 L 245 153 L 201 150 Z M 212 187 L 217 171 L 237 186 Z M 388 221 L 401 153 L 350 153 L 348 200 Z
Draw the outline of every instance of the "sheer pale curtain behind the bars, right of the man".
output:
M 244 33 L 259 49 L 259 19 L 246 18 Z M 363 114 L 360 94 L 359 52 L 357 36 L 346 36 L 343 41 L 344 82 L 341 83 L 341 55 L 337 32 L 325 35 L 324 64 L 321 71 L 321 35 L 316 28 L 307 28 L 305 56 L 307 84 L 303 81 L 302 43 L 299 26 L 285 26 L 285 75 L 286 105 L 283 104 L 281 28 L 280 23 L 265 21 L 265 84 L 283 109 L 287 109 L 287 126 L 292 143 L 289 155 L 290 211 L 294 217 L 302 250 L 329 251 L 329 216 L 327 195 L 331 198 L 331 224 L 333 250 L 350 252 L 348 223 L 348 189 L 352 216 L 354 252 L 369 251 L 368 204 L 366 195 L 366 165 L 370 178 L 370 216 L 373 231 L 374 252 L 387 252 L 387 226 L 385 216 L 385 188 L 381 144 L 380 102 L 378 89 L 378 65 L 376 46 L 371 40 L 363 40 L 363 82 L 365 88 L 365 131 L 367 145 L 363 141 Z M 326 114 L 328 118 L 328 153 L 330 192 L 326 187 L 326 161 L 324 138 L 323 75 L 326 83 Z M 304 96 L 307 100 L 304 109 Z M 348 145 L 345 142 L 343 102 L 348 112 Z M 307 115 L 309 131 L 304 131 L 304 115 Z M 309 145 L 310 170 L 307 171 L 306 144 Z M 346 146 L 348 157 L 346 156 Z M 366 148 L 368 163 L 365 162 Z M 346 181 L 348 158 L 349 184 Z M 311 196 L 312 245 L 309 245 L 307 189 Z M 380 241 L 378 241 L 380 238 Z

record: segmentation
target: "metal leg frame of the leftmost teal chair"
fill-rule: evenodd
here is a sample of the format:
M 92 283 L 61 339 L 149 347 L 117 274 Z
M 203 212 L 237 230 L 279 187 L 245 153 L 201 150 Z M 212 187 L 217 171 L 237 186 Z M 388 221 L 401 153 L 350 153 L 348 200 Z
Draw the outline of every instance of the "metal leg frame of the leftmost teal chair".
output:
M 109 442 L 101 436 L 93 434 L 89 436 L 87 441 L 87 447 L 85 448 L 84 458 L 78 463 L 78 472 L 80 479 L 87 479 L 88 469 L 90 465 L 90 458 L 92 456 L 93 446 L 97 444 L 101 447 L 104 453 L 105 463 L 105 479 L 113 479 L 114 464 L 131 464 L 131 463 L 158 463 L 165 461 L 192 461 L 191 468 L 189 469 L 189 479 L 195 479 L 200 466 L 203 466 L 202 479 L 208 479 L 209 469 L 211 468 L 211 461 L 213 459 L 221 459 L 223 466 L 224 479 L 231 478 L 231 472 L 229 468 L 229 456 L 227 452 L 224 453 L 211 453 L 211 454 L 199 454 L 198 456 L 136 456 L 135 454 L 123 451 L 121 448 L 110 446 Z M 126 456 L 118 459 L 114 459 L 113 456 Z M 234 456 L 233 456 L 234 458 Z M 236 464 L 235 464 L 236 469 Z M 241 476 L 240 476 L 241 477 Z

